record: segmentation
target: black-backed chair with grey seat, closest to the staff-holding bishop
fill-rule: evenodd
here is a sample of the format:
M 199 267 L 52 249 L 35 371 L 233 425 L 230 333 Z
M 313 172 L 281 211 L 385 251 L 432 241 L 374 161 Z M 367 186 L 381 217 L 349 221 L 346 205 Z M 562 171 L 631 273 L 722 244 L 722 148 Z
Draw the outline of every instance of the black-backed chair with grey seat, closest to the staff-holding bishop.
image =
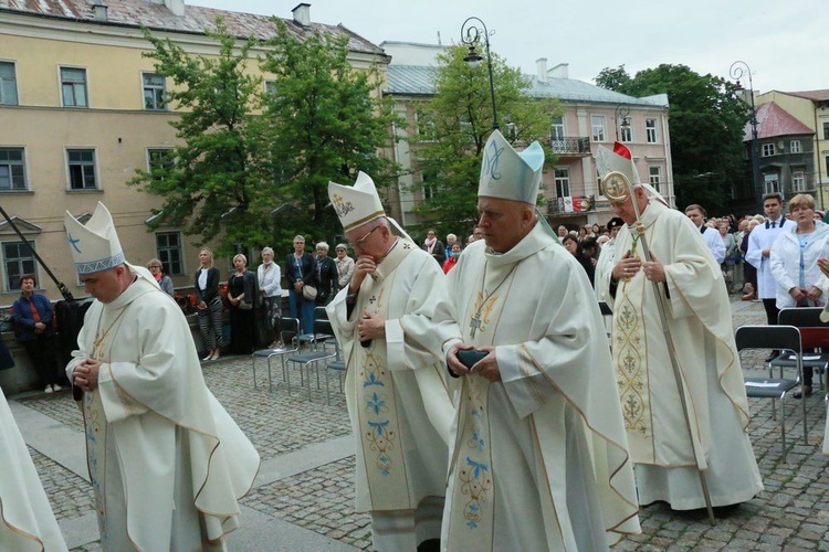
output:
M 780 401 L 780 439 L 783 442 L 783 458 L 786 459 L 786 393 L 798 385 L 802 379 L 802 346 L 800 330 L 794 326 L 741 326 L 734 337 L 737 351 L 746 349 L 777 349 L 791 351 L 795 354 L 797 380 L 784 378 L 744 378 L 746 395 L 752 399 L 772 399 L 772 417 L 775 416 L 774 401 Z M 808 428 L 806 427 L 806 401 L 800 401 L 804 414 L 804 440 L 808 444 Z

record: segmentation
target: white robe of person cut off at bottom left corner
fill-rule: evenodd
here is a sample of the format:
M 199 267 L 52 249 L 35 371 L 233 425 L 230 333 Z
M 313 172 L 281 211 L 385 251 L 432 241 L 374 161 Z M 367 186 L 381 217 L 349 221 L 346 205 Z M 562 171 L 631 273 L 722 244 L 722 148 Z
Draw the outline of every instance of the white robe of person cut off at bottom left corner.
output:
M 0 391 L 0 550 L 63 552 L 61 529 Z

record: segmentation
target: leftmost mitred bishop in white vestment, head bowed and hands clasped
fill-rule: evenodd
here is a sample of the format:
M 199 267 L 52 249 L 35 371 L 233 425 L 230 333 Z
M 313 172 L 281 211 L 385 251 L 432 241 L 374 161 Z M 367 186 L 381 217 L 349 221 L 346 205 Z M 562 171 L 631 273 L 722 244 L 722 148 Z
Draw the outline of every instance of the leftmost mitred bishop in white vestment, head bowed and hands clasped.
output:
M 124 261 L 98 203 L 64 217 L 90 307 L 66 367 L 81 390 L 104 550 L 222 550 L 259 455 L 204 384 L 181 309 Z M 77 397 L 77 394 L 75 395 Z

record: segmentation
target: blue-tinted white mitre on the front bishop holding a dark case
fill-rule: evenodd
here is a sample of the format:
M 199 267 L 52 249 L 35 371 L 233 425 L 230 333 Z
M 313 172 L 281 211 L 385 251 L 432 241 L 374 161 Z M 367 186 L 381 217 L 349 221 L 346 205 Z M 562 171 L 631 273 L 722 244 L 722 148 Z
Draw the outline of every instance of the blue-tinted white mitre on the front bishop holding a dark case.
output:
M 493 130 L 484 147 L 478 195 L 535 205 L 543 168 L 541 144 L 534 141 L 523 151 L 515 151 L 500 131 Z

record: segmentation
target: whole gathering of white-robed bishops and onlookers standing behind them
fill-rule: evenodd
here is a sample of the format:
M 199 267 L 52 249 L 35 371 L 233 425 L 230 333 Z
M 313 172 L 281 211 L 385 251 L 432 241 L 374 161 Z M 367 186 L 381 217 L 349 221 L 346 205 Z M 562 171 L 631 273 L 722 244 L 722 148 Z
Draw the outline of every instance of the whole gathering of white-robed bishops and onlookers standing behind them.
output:
M 597 155 L 602 179 L 629 183 L 611 199 L 616 216 L 553 231 L 535 209 L 543 166 L 537 142 L 516 151 L 493 131 L 465 240 L 430 230 L 418 244 L 360 172 L 328 185 L 346 238 L 335 257 L 325 242 L 309 253 L 302 235 L 283 266 L 270 247 L 255 273 L 238 254 L 222 294 L 212 253 L 199 253 L 202 362 L 225 344 L 279 344 L 283 276 L 303 331 L 325 308 L 347 363 L 355 509 L 370 514 L 374 550 L 608 550 L 641 530 L 639 509 L 653 502 L 737 507 L 764 488 L 726 278 L 744 257 L 770 323 L 774 309 L 825 305 L 829 226 L 814 199 L 791 198 L 788 219 L 768 194 L 762 222 L 706 221 L 703 206 L 671 209 L 640 183 L 617 145 Z M 220 550 L 258 454 L 204 385 L 156 259 L 126 262 L 103 204 L 85 225 L 69 213 L 65 225 L 96 299 L 65 375 L 84 412 L 102 545 Z M 40 336 L 48 312 L 32 289 L 21 311 Z M 597 298 L 612 314 L 611 340 Z M 31 501 L 0 496 L 3 514 L 28 508 L 42 530 L 23 516 L 0 526 L 0 543 L 60 540 L 25 468 Z M 0 492 L 11 480 L 0 476 Z

